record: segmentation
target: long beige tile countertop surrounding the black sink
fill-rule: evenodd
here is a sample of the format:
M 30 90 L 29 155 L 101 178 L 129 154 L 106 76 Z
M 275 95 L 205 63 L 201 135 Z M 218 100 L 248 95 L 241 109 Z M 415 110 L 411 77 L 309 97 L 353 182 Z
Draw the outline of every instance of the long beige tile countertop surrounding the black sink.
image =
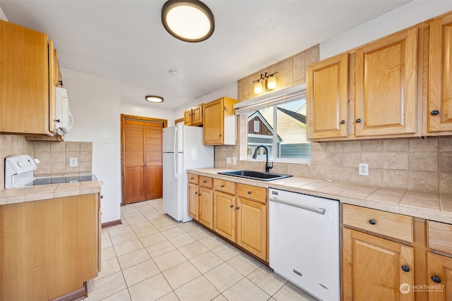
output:
M 254 185 L 263 188 L 276 188 L 307 195 L 338 199 L 372 209 L 379 209 L 432 221 L 452 223 L 452 195 L 436 192 L 404 190 L 362 185 L 359 183 L 319 180 L 315 178 L 290 177 L 281 180 L 261 181 L 234 176 L 219 175 L 225 168 L 196 168 L 188 170 L 199 176 L 208 176 L 235 183 Z

